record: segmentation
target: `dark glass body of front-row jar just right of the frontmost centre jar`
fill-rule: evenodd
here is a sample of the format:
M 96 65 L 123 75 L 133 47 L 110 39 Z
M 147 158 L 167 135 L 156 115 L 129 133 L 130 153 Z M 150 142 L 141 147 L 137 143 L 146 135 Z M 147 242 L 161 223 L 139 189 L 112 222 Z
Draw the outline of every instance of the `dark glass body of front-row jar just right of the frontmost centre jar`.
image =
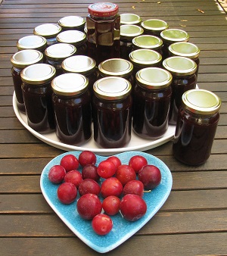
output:
M 146 89 L 135 84 L 132 127 L 138 136 L 157 139 L 166 133 L 171 94 L 171 86 Z

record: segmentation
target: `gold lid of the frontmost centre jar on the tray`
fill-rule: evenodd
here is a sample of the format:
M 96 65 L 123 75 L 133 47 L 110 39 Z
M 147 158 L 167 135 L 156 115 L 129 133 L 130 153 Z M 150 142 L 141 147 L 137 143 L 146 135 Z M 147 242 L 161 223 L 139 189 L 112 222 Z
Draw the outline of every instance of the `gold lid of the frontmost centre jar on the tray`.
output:
M 126 98 L 131 93 L 132 85 L 128 80 L 108 76 L 97 80 L 94 83 L 93 90 L 98 98 L 113 101 Z

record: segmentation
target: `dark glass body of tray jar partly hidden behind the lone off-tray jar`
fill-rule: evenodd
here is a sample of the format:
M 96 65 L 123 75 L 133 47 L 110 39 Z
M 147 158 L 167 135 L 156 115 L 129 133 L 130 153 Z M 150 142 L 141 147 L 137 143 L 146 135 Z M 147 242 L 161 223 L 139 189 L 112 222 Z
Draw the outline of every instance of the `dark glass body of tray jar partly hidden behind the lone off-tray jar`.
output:
M 174 76 L 171 83 L 172 96 L 170 101 L 169 123 L 176 124 L 179 107 L 182 105 L 182 95 L 184 92 L 195 89 L 197 76 L 195 73 L 189 76 Z

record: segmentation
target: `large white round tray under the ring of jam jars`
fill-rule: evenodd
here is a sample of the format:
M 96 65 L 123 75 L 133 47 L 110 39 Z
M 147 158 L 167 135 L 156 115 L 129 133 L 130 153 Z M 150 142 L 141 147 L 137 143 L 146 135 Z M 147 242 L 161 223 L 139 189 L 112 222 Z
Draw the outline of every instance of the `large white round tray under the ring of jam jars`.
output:
M 163 145 L 164 143 L 173 139 L 175 129 L 176 129 L 176 126 L 169 125 L 168 130 L 160 139 L 142 139 L 142 138 L 138 137 L 137 135 L 135 135 L 135 133 L 132 132 L 131 141 L 125 148 L 99 148 L 98 145 L 95 144 L 95 141 L 93 138 L 91 138 L 89 140 L 89 142 L 86 142 L 83 145 L 79 145 L 79 146 L 68 145 L 68 144 L 60 142 L 55 133 L 40 134 L 40 133 L 37 133 L 35 130 L 33 130 L 30 126 L 28 126 L 26 114 L 23 114 L 17 108 L 15 92 L 13 95 L 13 107 L 14 107 L 14 112 L 15 112 L 18 120 L 20 121 L 20 123 L 22 123 L 22 125 L 27 130 L 30 131 L 30 133 L 32 133 L 38 139 L 42 140 L 42 142 L 45 142 L 48 145 L 51 145 L 55 148 L 60 148 L 64 151 L 90 150 L 98 155 L 113 155 L 113 154 L 118 154 L 120 152 L 133 151 L 133 150 L 146 151 L 150 148 L 155 148 L 159 145 Z

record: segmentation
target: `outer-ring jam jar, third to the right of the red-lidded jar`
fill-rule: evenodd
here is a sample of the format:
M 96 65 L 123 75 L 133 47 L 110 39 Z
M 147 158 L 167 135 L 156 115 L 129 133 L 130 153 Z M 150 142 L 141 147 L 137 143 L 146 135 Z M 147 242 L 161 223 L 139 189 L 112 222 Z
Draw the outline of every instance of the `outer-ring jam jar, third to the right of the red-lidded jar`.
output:
M 185 30 L 167 29 L 160 33 L 163 40 L 163 59 L 169 57 L 169 45 L 174 42 L 188 42 L 189 34 Z

